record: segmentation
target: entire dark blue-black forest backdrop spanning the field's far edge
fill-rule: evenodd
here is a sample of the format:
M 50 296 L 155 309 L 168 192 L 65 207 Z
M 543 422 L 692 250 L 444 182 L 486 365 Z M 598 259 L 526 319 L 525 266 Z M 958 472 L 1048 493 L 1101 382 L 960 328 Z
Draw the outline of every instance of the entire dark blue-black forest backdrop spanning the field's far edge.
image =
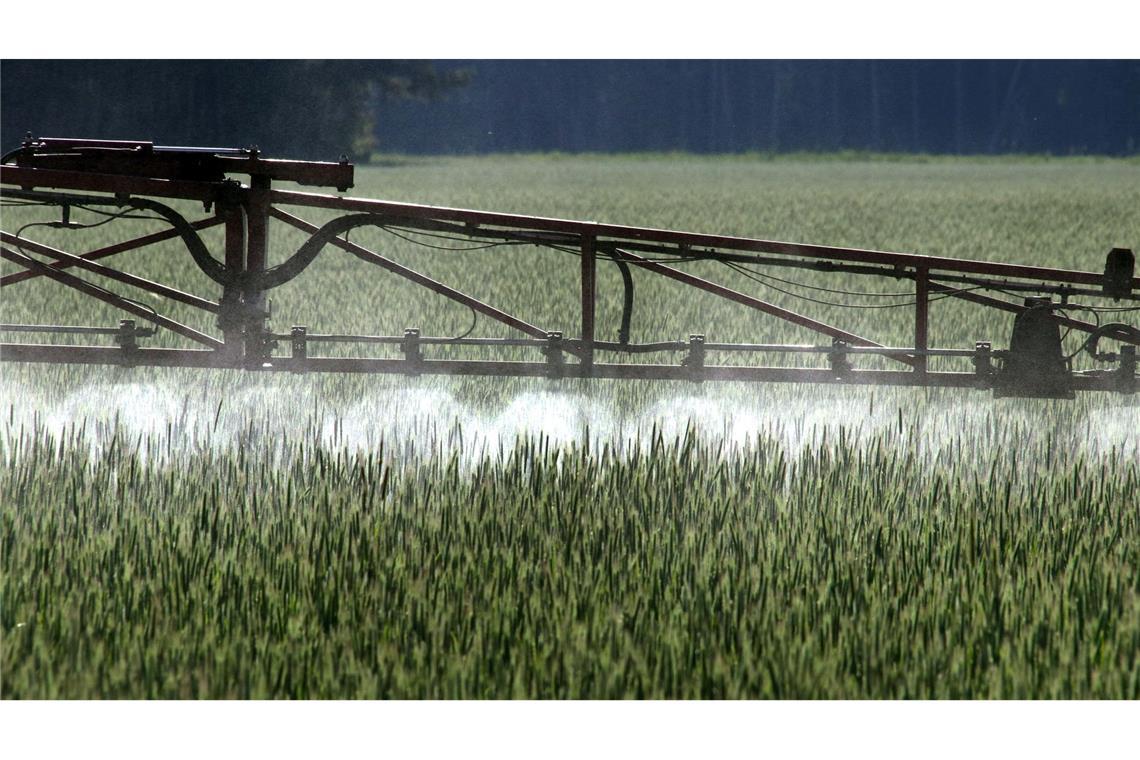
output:
M 5 60 L 25 131 L 356 160 L 516 150 L 1133 154 L 1137 60 Z

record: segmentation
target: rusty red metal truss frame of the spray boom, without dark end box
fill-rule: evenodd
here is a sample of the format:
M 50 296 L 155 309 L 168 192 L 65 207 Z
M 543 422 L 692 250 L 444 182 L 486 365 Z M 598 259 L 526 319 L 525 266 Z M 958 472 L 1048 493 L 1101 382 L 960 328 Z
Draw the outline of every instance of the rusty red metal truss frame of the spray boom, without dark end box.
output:
M 101 205 L 146 204 L 140 207 L 161 210 L 163 216 L 173 220 L 173 228 L 79 255 L 5 231 L 0 236 L 3 243 L 0 246 L 0 254 L 5 260 L 23 267 L 24 271 L 0 278 L 0 287 L 8 288 L 33 278 L 48 277 L 60 285 L 75 288 L 133 317 L 204 345 L 205 349 L 146 348 L 137 345 L 133 338 L 130 341 L 116 338 L 117 346 L 0 343 L 0 360 L 285 371 L 755 381 L 986 389 L 994 387 L 999 374 L 992 361 L 994 359 L 1001 361 L 1007 352 L 994 350 L 987 343 L 977 343 L 969 349 L 931 348 L 929 345 L 931 296 L 955 297 L 1018 314 L 1025 311 L 1025 305 L 983 295 L 976 291 L 988 287 L 1000 292 L 1044 294 L 1065 302 L 1074 296 L 1102 296 L 1106 288 L 1107 273 L 1093 271 L 504 214 L 353 198 L 325 193 L 282 190 L 272 187 L 275 181 L 295 181 L 344 189 L 352 183 L 351 172 L 351 165 L 344 162 L 323 164 L 270 161 L 261 158 L 255 153 L 233 149 L 158 148 L 145 142 L 99 140 L 47 139 L 25 144 L 23 150 L 15 153 L 15 161 L 6 161 L 0 166 L 0 185 L 5 186 L 5 196 L 25 201 L 39 199 L 65 210 L 70 205 L 82 205 L 85 198 Z M 231 174 L 235 173 L 247 175 L 247 181 L 234 179 Z M 64 193 L 96 195 L 75 196 Z M 212 212 L 212 215 L 197 221 L 182 220 L 177 212 L 161 205 L 155 198 L 198 202 L 207 213 Z M 324 226 L 317 226 L 295 213 L 284 211 L 280 206 L 335 211 L 342 215 Z M 309 236 L 308 242 L 295 254 L 276 267 L 268 265 L 270 221 L 285 223 Z M 66 226 L 66 213 L 65 221 L 58 226 Z M 196 237 L 201 230 L 217 226 L 221 226 L 225 231 L 225 242 L 219 252 L 220 259 L 206 252 L 201 238 Z M 341 236 L 358 227 L 445 231 L 475 240 L 531 243 L 572 251 L 580 260 L 578 268 L 580 312 L 575 320 L 576 324 L 536 325 L 357 243 L 350 243 Z M 105 263 L 96 263 L 97 260 L 179 237 L 187 242 L 199 268 L 221 286 L 221 294 L 217 301 L 130 275 Z M 274 287 L 301 276 L 327 246 L 341 248 L 361 261 L 376 264 L 390 273 L 465 305 L 478 314 L 521 333 L 524 337 L 437 338 L 422 336 L 416 328 L 407 329 L 402 336 L 321 335 L 310 332 L 304 326 L 295 326 L 288 334 L 270 332 L 267 327 L 267 294 Z M 600 260 L 613 262 L 622 275 L 625 297 L 622 324 L 617 342 L 597 340 Z M 913 345 L 885 346 L 839 326 L 813 319 L 674 265 L 702 260 L 760 268 L 779 267 L 912 280 L 915 294 Z M 207 335 L 64 271 L 71 268 L 82 269 L 217 314 L 221 335 L 220 337 Z M 804 327 L 823 336 L 830 343 L 809 346 L 711 343 L 706 341 L 703 335 L 689 336 L 687 342 L 660 340 L 651 343 L 629 343 L 629 316 L 633 310 L 630 271 L 634 269 L 665 277 L 694 292 L 725 299 L 743 308 Z M 963 287 L 955 287 L 948 283 Z M 1123 297 L 1140 301 L 1140 278 L 1132 277 L 1125 285 L 1127 287 Z M 1134 346 L 1140 345 L 1140 329 L 1129 325 L 1102 328 L 1067 314 L 1058 314 L 1057 322 L 1122 344 L 1118 357 L 1113 354 L 1118 365 L 1115 369 L 1070 373 L 1068 387 L 1072 391 L 1131 392 L 1135 389 Z M 0 325 L 0 332 L 6 329 L 23 333 L 89 330 L 90 334 L 120 335 L 111 328 Z M 571 335 L 571 330 L 576 336 Z M 277 351 L 277 346 L 283 342 L 287 342 L 291 348 L 288 354 Z M 321 342 L 386 344 L 398 346 L 404 357 L 311 356 L 309 346 Z M 124 344 L 129 344 L 129 350 Z M 542 359 L 441 360 L 424 357 L 424 348 L 440 344 L 453 348 L 497 346 L 504 350 L 523 350 L 534 352 Z M 819 354 L 825 366 L 819 368 L 722 366 L 707 361 L 708 354 L 712 352 Z M 679 362 L 674 360 L 671 363 L 662 363 L 638 359 L 662 354 L 675 357 L 677 353 L 682 354 Z M 619 354 L 626 360 L 618 362 L 602 360 L 603 356 L 610 354 Z M 865 356 L 877 356 L 898 362 L 905 369 L 856 368 L 855 361 Z M 972 363 L 974 369 L 934 371 L 928 366 L 928 359 L 938 356 Z

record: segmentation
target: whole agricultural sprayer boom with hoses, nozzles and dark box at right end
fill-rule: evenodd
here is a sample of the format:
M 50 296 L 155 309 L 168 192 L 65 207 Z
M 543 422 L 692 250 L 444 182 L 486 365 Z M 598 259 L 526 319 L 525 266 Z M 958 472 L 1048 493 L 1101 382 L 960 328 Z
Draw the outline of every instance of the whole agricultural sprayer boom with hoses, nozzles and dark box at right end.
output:
M 24 234 L 31 224 L 15 232 L 2 231 L 3 259 L 18 267 L 0 279 L 6 299 L 13 297 L 10 288 L 22 283 L 49 278 L 129 316 L 117 325 L 104 326 L 0 325 L 6 334 L 41 336 L 41 342 L 0 344 L 3 361 L 945 386 L 1045 398 L 1073 398 L 1076 391 L 1132 393 L 1137 389 L 1140 329 L 1122 320 L 1140 311 L 1135 303 L 1140 301 L 1140 279 L 1134 255 L 1126 248 L 1113 248 L 1102 271 L 1073 271 L 355 198 L 341 195 L 353 185 L 353 166 L 347 161 L 270 160 L 255 148 L 30 137 L 3 157 L 0 180 L 6 206 L 41 206 L 52 214 L 51 221 L 40 223 L 43 227 L 90 227 L 73 221 L 76 211 L 104 221 L 145 215 L 164 227 L 81 254 L 31 239 Z M 284 182 L 323 191 L 280 189 Z M 203 215 L 188 218 L 185 202 L 201 204 Z M 324 221 L 312 223 L 294 213 L 296 210 L 319 213 Z M 306 239 L 295 250 L 271 252 L 270 223 L 292 228 Z M 213 227 L 223 230 L 223 243 L 215 252 L 201 235 Z M 573 275 L 580 309 L 567 314 L 565 324 L 536 324 L 351 242 L 350 232 L 369 227 L 571 253 L 578 260 Z M 185 245 L 197 268 L 217 286 L 214 297 L 190 294 L 106 262 L 168 240 Z M 437 337 L 421 326 L 409 326 L 402 335 L 334 334 L 315 324 L 274 332 L 268 296 L 304 277 L 310 264 L 333 247 L 374 264 L 377 276 L 404 278 L 510 330 L 498 337 Z M 270 263 L 271 259 L 277 263 Z M 564 255 L 560 259 L 565 260 Z M 885 345 L 841 324 L 813 319 L 739 286 L 699 277 L 683 265 L 699 261 L 722 263 L 748 276 L 749 281 L 772 285 L 796 284 L 796 272 L 811 272 L 815 281 L 834 278 L 834 287 L 813 286 L 823 293 L 848 293 L 841 288 L 861 278 L 907 283 L 912 297 L 897 305 L 912 312 L 907 317 L 913 322 L 912 344 Z M 621 277 L 620 322 L 605 332 L 616 340 L 600 337 L 604 332 L 596 319 L 601 267 L 614 267 Z M 772 273 L 775 271 L 783 277 Z M 149 303 L 115 293 L 78 272 L 209 312 L 217 329 L 210 334 L 163 316 Z M 635 279 L 649 277 L 666 278 L 693 295 L 724 299 L 742 310 L 796 325 L 820 340 L 795 345 L 763 340 L 715 342 L 693 334 L 681 340 L 662 335 L 633 342 Z M 352 297 L 351 292 L 339 295 Z M 972 345 L 930 345 L 930 304 L 945 299 L 1001 316 L 1008 344 L 997 346 L 978 336 Z M 1115 305 L 1105 305 L 1109 301 Z M 158 329 L 177 335 L 186 345 L 147 346 Z M 1066 353 L 1062 329 L 1066 336 L 1078 336 L 1075 351 Z M 64 335 L 72 336 L 66 340 L 74 344 L 60 343 Z M 332 343 L 355 344 L 375 356 L 327 356 L 329 351 L 323 346 Z M 445 345 L 448 356 L 438 356 Z M 488 357 L 488 352 L 495 356 Z M 797 354 L 798 366 L 789 366 L 789 354 Z M 1092 367 L 1074 369 L 1078 354 Z

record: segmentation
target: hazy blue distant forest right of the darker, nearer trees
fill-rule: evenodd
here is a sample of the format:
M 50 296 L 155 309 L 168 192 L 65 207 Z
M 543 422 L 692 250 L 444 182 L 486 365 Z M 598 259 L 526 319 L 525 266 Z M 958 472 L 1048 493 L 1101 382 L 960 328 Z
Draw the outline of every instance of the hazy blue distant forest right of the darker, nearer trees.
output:
M 381 146 L 484 150 L 1132 154 L 1137 60 L 484 60 Z

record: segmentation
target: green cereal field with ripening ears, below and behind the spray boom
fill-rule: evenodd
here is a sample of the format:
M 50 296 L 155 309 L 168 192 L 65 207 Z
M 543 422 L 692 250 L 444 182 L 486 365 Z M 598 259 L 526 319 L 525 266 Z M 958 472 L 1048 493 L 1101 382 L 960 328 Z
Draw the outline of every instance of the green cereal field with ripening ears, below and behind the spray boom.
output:
M 1093 271 L 1140 248 L 1135 160 L 392 158 L 358 167 L 350 195 Z M 6 230 L 72 252 L 161 229 L 2 211 Z M 302 240 L 275 227 L 271 263 Z M 352 240 L 577 334 L 569 254 Z M 218 295 L 178 244 L 117 263 Z M 911 340 L 909 309 L 837 305 L 906 302 L 906 280 L 820 299 L 809 275 L 687 271 Z M 819 341 L 635 277 L 635 342 Z M 600 337 L 620 283 L 600 263 Z M 42 279 L 0 296 L 2 322 L 120 318 Z M 339 251 L 271 299 L 276 332 L 472 327 Z M 1004 346 L 1012 325 L 952 299 L 931 320 L 945 348 Z M 1134 395 L 0 373 L 6 698 L 1140 698 Z

